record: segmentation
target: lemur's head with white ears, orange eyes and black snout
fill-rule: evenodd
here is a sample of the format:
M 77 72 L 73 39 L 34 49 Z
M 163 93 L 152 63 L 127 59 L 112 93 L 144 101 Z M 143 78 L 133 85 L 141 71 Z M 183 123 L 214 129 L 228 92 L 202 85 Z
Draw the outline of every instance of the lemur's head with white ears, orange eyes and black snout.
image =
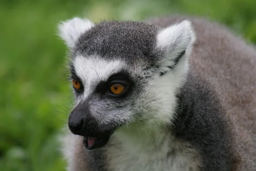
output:
M 191 23 L 160 28 L 137 21 L 73 18 L 59 25 L 70 49 L 76 107 L 72 133 L 87 149 L 103 147 L 116 129 L 171 125 L 195 41 Z

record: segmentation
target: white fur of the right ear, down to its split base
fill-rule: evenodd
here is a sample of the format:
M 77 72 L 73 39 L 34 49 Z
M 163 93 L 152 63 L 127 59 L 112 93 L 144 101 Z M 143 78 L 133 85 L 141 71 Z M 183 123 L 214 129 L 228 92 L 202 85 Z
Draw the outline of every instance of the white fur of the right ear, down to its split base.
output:
M 165 57 L 160 61 L 160 70 L 162 72 L 169 71 L 168 66 L 174 64 L 175 58 L 186 50 L 186 54 L 183 57 L 183 61 L 179 62 L 179 75 L 186 75 L 188 66 L 188 56 L 192 51 L 192 44 L 195 42 L 196 36 L 189 20 L 184 20 L 179 24 L 175 24 L 161 30 L 157 35 L 157 47 L 165 52 Z M 179 71 L 178 71 L 179 70 Z

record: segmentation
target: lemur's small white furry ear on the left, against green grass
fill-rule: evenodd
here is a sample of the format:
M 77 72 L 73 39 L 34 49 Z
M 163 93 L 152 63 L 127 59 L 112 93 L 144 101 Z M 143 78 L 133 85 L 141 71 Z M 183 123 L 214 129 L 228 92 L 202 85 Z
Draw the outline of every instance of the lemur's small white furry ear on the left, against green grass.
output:
M 94 24 L 90 20 L 77 17 L 72 20 L 62 21 L 58 25 L 59 37 L 72 49 L 78 38 L 93 26 Z

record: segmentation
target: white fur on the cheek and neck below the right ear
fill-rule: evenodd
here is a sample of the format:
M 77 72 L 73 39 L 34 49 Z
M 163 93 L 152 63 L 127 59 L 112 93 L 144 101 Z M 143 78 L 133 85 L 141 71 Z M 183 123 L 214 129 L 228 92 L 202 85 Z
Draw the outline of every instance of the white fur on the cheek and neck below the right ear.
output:
M 154 118 L 161 125 L 172 125 L 172 121 L 176 117 L 174 112 L 177 98 L 175 95 L 186 80 L 186 73 L 189 68 L 188 55 L 190 53 L 186 52 L 174 69 L 169 69 L 169 72 L 162 77 L 156 74 L 150 82 L 151 96 L 154 95 L 154 98 L 158 99 L 157 101 L 152 101 L 150 106 L 153 109 L 157 109 L 157 111 L 154 111 Z M 155 122 L 155 120 L 152 120 L 152 122 Z

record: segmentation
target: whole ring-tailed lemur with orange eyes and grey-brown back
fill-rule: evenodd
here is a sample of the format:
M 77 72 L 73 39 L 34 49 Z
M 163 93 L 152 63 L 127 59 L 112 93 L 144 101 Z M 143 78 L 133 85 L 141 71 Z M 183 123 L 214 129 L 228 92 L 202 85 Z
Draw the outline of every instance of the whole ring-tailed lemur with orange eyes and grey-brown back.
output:
M 68 171 L 256 171 L 256 49 L 201 17 L 59 25 Z

